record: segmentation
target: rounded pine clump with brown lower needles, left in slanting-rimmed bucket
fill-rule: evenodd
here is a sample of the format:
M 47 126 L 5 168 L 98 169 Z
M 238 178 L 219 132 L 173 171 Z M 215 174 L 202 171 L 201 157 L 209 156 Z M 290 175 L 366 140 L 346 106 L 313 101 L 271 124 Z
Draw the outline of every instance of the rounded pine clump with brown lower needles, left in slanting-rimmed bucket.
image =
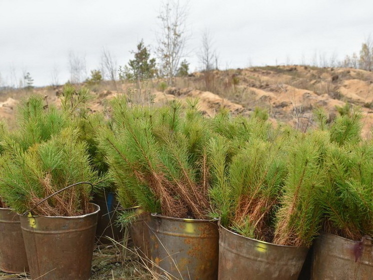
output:
M 247 142 L 233 159 L 229 181 L 235 205 L 232 228 L 238 233 L 271 241 L 271 215 L 286 175 L 279 147 L 259 139 Z

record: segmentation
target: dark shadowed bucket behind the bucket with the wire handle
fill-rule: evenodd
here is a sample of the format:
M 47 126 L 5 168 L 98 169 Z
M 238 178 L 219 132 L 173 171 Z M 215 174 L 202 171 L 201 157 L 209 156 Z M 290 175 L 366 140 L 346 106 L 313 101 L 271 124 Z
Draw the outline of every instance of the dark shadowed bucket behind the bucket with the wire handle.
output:
M 111 239 L 120 242 L 124 237 L 124 231 L 116 222 L 120 206 L 115 193 L 103 191 L 95 194 L 92 201 L 101 209 L 97 218 L 97 241 L 101 244 L 110 244 Z

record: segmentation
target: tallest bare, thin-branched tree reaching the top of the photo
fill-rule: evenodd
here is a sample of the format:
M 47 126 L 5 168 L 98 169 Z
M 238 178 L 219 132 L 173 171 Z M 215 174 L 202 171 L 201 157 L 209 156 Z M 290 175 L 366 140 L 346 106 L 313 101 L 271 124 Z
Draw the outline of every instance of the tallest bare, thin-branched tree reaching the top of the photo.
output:
M 184 53 L 187 40 L 186 16 L 187 7 L 181 6 L 178 1 L 162 4 L 158 15 L 160 32 L 156 35 L 158 43 L 156 52 L 160 63 L 160 74 L 167 78 L 169 85 L 173 83 L 173 77 L 177 74 Z

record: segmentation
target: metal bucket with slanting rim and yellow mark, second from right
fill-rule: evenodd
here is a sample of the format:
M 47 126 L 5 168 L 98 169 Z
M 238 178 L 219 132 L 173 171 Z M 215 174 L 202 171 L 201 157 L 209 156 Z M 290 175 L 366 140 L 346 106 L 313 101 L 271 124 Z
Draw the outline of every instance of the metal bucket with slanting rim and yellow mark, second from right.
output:
M 296 280 L 308 249 L 281 246 L 244 237 L 219 227 L 221 280 Z

